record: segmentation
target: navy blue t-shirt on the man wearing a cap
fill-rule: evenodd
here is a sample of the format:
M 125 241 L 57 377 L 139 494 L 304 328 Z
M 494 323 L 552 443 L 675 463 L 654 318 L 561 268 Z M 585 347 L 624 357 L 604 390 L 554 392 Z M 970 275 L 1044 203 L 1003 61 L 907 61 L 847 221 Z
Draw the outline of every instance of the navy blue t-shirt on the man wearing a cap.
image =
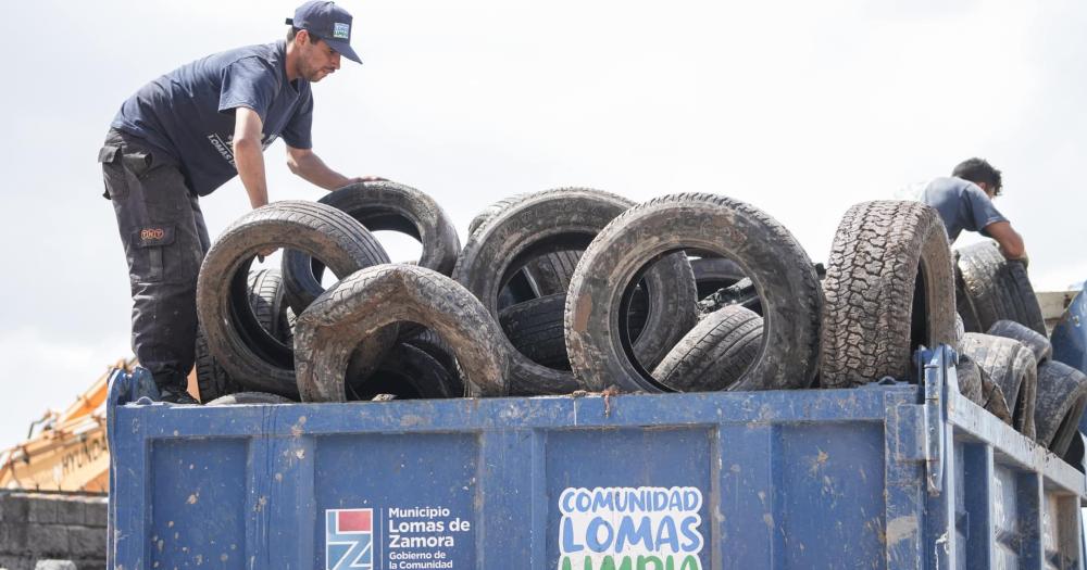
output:
M 238 174 L 234 110 L 252 109 L 264 124 L 262 143 L 277 137 L 312 148 L 310 83 L 287 80 L 286 42 L 247 46 L 183 65 L 147 84 L 121 105 L 113 128 L 140 137 L 173 156 L 205 195 Z

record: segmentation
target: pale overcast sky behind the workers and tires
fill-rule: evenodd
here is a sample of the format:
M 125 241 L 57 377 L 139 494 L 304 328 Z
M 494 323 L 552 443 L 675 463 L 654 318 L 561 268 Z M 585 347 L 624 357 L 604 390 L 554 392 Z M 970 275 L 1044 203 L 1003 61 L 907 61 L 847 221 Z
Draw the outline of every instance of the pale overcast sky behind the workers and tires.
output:
M 121 102 L 183 63 L 283 37 L 296 4 L 5 7 L 0 447 L 129 352 L 127 269 L 96 163 Z M 315 151 L 430 193 L 462 240 L 515 192 L 703 191 L 763 208 L 823 261 L 851 204 L 978 155 L 1004 172 L 997 205 L 1035 288 L 1087 275 L 1082 1 L 341 4 L 365 63 L 314 86 Z M 266 164 L 272 200 L 322 194 L 288 173 L 282 142 Z M 248 200 L 234 180 L 201 205 L 214 238 Z

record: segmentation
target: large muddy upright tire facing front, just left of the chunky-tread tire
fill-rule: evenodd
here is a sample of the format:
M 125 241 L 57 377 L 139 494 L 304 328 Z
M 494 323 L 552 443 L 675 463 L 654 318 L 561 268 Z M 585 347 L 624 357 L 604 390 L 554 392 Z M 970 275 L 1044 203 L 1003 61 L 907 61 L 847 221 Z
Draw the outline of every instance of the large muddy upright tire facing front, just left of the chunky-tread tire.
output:
M 616 325 L 629 286 L 650 262 L 682 249 L 733 259 L 762 297 L 765 321 L 759 356 L 732 388 L 811 385 L 819 369 L 823 306 L 815 269 L 792 235 L 774 218 L 715 194 L 673 194 L 632 207 L 585 251 L 570 284 L 565 314 L 566 351 L 577 378 L 592 390 L 616 384 L 628 391 L 672 391 L 650 376 L 645 360 L 634 357 L 625 331 Z M 682 295 L 663 305 L 682 338 L 694 327 L 696 290 L 678 269 L 670 269 L 669 275 L 683 279 Z M 652 320 L 657 308 L 652 303 L 650 307 Z M 647 330 L 652 328 L 647 326 Z M 650 363 L 648 368 L 652 367 Z

